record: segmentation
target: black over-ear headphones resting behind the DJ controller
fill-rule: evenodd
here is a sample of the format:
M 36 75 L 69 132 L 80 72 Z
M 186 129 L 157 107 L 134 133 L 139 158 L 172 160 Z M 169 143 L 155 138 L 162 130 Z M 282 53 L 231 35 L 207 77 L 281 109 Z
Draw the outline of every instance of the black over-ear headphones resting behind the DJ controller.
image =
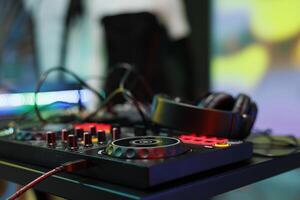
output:
M 249 96 L 234 98 L 223 92 L 210 93 L 196 105 L 157 95 L 151 113 L 153 123 L 165 128 L 238 140 L 250 134 L 256 116 L 256 103 Z

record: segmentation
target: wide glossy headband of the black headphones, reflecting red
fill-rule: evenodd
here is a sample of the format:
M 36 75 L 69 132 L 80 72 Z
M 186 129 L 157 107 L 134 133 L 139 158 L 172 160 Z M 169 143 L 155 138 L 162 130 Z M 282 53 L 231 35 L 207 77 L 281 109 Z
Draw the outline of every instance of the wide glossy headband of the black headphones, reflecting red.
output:
M 237 139 L 240 137 L 244 124 L 252 120 L 245 114 L 199 108 L 162 96 L 154 97 L 152 106 L 152 121 L 155 124 L 216 137 Z

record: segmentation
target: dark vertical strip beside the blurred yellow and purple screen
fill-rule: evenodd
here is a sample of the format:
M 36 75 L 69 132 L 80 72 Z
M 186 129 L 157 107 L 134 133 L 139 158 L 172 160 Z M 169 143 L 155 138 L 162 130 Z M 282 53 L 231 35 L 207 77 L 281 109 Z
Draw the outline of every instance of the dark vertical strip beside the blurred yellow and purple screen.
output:
M 193 60 L 193 98 L 210 88 L 210 35 L 211 6 L 213 1 L 185 0 L 188 20 L 192 29 L 189 37 Z

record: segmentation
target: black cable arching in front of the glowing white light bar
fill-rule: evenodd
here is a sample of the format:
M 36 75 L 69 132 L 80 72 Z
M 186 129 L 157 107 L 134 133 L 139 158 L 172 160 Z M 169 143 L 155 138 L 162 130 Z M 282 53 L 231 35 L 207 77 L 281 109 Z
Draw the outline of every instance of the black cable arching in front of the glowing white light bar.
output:
M 82 87 L 85 87 L 87 89 L 89 89 L 91 92 L 93 92 L 98 98 L 100 101 L 104 101 L 105 97 L 102 96 L 101 93 L 99 93 L 98 91 L 96 91 L 94 88 L 92 88 L 91 86 L 89 86 L 86 82 L 84 82 L 79 76 L 77 76 L 77 74 L 75 74 L 74 72 L 68 70 L 68 69 L 65 69 L 65 68 L 62 68 L 62 67 L 55 67 L 55 68 L 51 68 L 47 71 L 45 71 L 42 76 L 40 77 L 37 85 L 36 85 L 36 89 L 35 89 L 35 92 L 34 92 L 34 110 L 35 110 L 35 113 L 38 117 L 38 119 L 42 122 L 42 123 L 47 123 L 48 121 L 46 119 L 43 118 L 40 110 L 39 110 L 39 107 L 38 107 L 38 103 L 37 103 L 37 99 L 38 99 L 38 93 L 40 92 L 41 90 L 41 87 L 42 85 L 44 84 L 44 82 L 46 81 L 46 79 L 48 78 L 49 74 L 52 73 L 52 72 L 55 72 L 55 71 L 61 71 L 61 72 L 64 72 L 66 74 L 69 74 L 71 75 L 74 79 L 76 79 L 76 81 L 82 86 Z

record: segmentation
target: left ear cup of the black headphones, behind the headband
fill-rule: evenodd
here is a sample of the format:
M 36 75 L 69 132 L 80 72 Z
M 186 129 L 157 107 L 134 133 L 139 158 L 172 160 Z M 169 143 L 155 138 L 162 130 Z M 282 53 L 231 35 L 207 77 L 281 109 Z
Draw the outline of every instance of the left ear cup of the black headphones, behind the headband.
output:
M 199 103 L 203 108 L 212 108 L 230 111 L 234 105 L 234 98 L 227 93 L 212 93 Z

